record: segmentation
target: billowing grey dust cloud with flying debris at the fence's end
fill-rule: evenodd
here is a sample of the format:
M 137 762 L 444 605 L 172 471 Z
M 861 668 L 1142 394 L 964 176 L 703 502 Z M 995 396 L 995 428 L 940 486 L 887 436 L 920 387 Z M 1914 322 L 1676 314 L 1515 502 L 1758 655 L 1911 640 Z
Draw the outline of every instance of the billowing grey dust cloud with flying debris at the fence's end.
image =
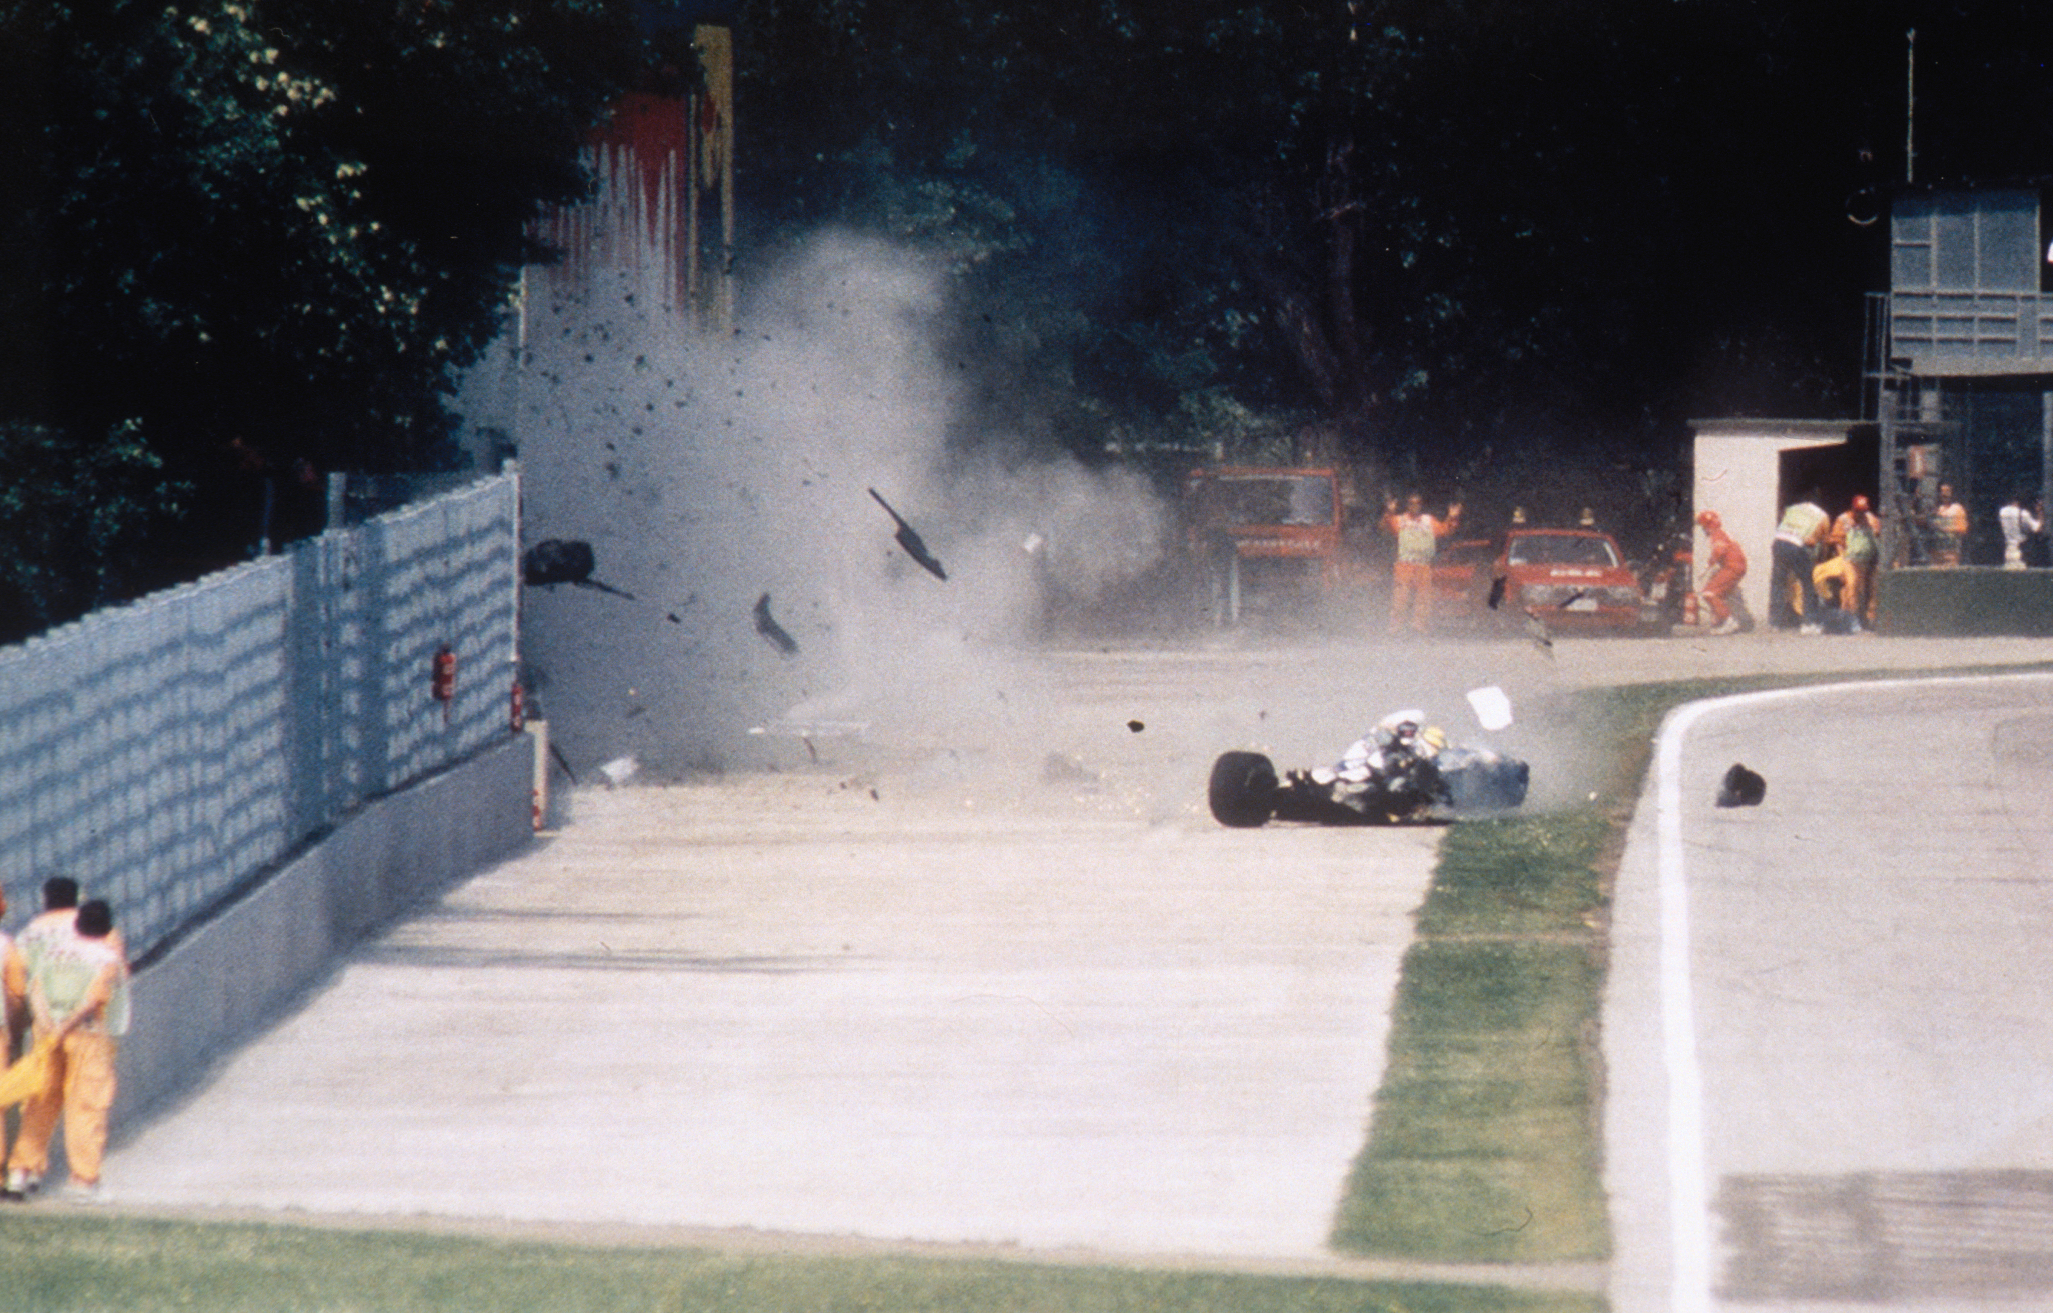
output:
M 524 542 L 585 540 L 632 594 L 528 590 L 528 682 L 571 762 L 675 777 L 1033 713 L 1014 653 L 1055 598 L 1152 567 L 1168 508 L 1135 475 L 951 446 L 946 308 L 930 261 L 856 236 L 758 279 L 729 339 L 626 284 L 530 304 Z

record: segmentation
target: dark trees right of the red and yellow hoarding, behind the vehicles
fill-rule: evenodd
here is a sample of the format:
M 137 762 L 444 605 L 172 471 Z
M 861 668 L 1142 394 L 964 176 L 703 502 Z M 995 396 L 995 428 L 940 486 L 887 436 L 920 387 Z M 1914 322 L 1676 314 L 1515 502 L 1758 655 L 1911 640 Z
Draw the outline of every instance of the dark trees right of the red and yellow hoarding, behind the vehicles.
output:
M 1694 415 L 1858 405 L 1848 208 L 1903 179 L 1913 27 L 1920 177 L 2045 171 L 2018 0 L 758 0 L 745 183 L 772 232 L 959 251 L 992 419 L 1057 399 L 1078 450 L 1651 468 Z

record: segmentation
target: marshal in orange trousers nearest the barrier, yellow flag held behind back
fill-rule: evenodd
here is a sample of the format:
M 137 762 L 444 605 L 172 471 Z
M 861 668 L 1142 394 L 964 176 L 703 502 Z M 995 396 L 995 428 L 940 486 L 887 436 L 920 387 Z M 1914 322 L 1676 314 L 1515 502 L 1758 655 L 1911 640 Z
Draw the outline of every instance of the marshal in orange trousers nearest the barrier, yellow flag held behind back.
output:
M 25 960 L 29 1015 L 37 1044 L 49 1046 L 49 1075 L 23 1101 L 21 1134 L 8 1153 L 6 1192 L 27 1196 L 49 1169 L 49 1140 L 64 1118 L 66 1192 L 94 1200 L 115 1103 L 115 1054 L 129 1023 L 127 960 L 113 939 L 113 908 L 94 898 L 78 908 L 68 939 L 49 937 Z M 27 937 L 27 931 L 25 931 Z

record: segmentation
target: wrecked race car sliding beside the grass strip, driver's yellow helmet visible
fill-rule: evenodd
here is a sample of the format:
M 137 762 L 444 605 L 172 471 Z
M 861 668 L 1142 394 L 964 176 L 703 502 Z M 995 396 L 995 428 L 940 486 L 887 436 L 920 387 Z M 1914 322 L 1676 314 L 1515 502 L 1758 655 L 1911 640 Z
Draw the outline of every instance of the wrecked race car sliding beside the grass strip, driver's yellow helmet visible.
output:
M 1222 752 L 1207 801 L 1236 830 L 1271 820 L 1394 826 L 1507 812 L 1525 801 L 1527 775 L 1517 758 L 1449 744 L 1423 711 L 1396 711 L 1332 766 L 1279 777 L 1261 752 Z

